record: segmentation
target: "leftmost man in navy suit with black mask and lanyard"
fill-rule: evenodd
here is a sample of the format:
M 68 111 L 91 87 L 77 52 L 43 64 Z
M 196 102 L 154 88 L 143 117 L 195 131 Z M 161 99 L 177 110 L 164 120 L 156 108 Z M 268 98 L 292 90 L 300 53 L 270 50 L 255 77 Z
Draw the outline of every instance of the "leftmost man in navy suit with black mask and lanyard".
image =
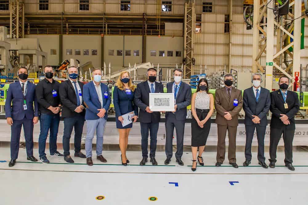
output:
M 10 84 L 5 102 L 6 121 L 11 126 L 11 161 L 9 167 L 15 165 L 18 157 L 22 125 L 26 139 L 27 159 L 32 162 L 38 161 L 33 156 L 33 125 L 39 120 L 39 105 L 35 96 L 35 85 L 27 81 L 28 70 L 25 67 L 19 68 L 18 78 L 19 81 Z

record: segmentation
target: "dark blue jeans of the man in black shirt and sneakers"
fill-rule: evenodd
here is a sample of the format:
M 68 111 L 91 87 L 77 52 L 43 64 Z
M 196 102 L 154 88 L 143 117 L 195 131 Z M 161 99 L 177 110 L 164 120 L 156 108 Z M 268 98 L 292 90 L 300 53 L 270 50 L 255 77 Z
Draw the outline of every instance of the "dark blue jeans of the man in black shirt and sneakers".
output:
M 39 157 L 42 158 L 46 156 L 45 147 L 48 131 L 50 130 L 49 135 L 49 151 L 50 155 L 55 154 L 57 151 L 57 135 L 60 123 L 59 115 L 48 115 L 41 113 L 39 115 L 41 132 L 39 134 Z

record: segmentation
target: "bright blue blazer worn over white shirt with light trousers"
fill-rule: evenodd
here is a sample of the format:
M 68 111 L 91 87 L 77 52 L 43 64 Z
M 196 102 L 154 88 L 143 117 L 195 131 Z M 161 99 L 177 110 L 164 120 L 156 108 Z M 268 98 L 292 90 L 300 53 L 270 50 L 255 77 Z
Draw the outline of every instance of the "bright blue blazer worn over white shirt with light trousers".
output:
M 104 118 L 107 120 L 108 118 L 108 110 L 110 107 L 110 103 L 111 103 L 111 98 L 110 98 L 110 94 L 109 94 L 109 88 L 107 85 L 100 83 L 100 88 L 102 89 L 102 97 L 103 97 L 103 108 L 105 108 L 106 110 L 106 114 L 104 116 Z M 108 94 L 108 98 L 104 98 L 104 93 Z M 93 81 L 85 84 L 83 86 L 83 101 L 84 104 L 86 105 L 86 120 L 95 120 L 95 119 L 99 119 L 99 116 L 97 116 L 97 114 L 99 113 L 99 111 L 97 109 L 101 109 L 102 106 L 100 104 L 99 98 L 98 98 L 98 94 L 95 90 Z

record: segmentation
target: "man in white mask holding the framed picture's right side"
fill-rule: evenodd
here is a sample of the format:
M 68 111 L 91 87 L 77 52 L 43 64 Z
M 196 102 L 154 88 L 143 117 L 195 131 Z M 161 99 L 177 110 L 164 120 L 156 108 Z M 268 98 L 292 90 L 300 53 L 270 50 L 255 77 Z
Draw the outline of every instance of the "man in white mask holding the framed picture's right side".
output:
M 182 74 L 183 72 L 181 69 L 173 70 L 174 81 L 167 84 L 167 93 L 174 93 L 175 106 L 173 112 L 166 112 L 166 165 L 170 163 L 172 158 L 172 139 L 174 127 L 176 130 L 176 162 L 181 166 L 184 165 L 181 157 L 183 155 L 184 127 L 187 115 L 186 107 L 190 105 L 192 90 L 188 84 L 181 81 Z

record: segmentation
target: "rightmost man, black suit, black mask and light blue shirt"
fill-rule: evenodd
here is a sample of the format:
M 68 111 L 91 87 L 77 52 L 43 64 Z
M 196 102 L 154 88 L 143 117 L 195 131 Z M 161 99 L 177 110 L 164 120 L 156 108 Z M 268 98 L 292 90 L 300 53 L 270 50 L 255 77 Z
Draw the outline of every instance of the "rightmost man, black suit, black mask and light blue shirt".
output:
M 298 95 L 288 90 L 290 79 L 286 76 L 279 78 L 279 90 L 270 94 L 270 167 L 275 168 L 276 151 L 281 135 L 285 145 L 285 166 L 294 171 L 292 163 L 292 143 L 295 131 L 294 115 L 299 110 Z

